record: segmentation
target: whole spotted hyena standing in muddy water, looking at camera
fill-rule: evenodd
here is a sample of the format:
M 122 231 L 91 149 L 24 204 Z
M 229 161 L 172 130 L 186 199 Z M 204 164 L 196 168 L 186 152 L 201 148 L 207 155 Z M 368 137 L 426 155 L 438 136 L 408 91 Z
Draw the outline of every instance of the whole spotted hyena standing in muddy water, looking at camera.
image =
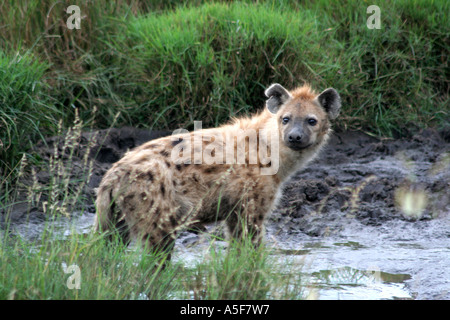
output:
M 252 117 L 128 152 L 99 186 L 96 230 L 170 253 L 181 230 L 225 220 L 229 236 L 259 244 L 281 185 L 317 155 L 341 106 L 332 88 L 273 84 L 265 94 L 266 107 Z

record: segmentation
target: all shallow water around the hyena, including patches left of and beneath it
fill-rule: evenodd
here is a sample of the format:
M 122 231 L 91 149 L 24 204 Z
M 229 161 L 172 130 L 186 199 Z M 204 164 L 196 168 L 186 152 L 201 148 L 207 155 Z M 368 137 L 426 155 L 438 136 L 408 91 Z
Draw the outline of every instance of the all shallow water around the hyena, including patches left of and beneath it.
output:
M 40 224 L 19 224 L 15 232 L 36 239 L 53 228 L 55 239 L 90 232 L 93 214 Z M 188 245 L 187 245 L 188 244 Z M 393 220 L 371 227 L 349 219 L 338 235 L 283 234 L 269 226 L 266 245 L 287 272 L 298 269 L 312 299 L 450 299 L 448 218 Z M 225 242 L 217 242 L 224 248 Z M 174 260 L 193 266 L 209 254 L 209 237 L 184 233 Z M 297 269 L 295 269 L 297 268 Z

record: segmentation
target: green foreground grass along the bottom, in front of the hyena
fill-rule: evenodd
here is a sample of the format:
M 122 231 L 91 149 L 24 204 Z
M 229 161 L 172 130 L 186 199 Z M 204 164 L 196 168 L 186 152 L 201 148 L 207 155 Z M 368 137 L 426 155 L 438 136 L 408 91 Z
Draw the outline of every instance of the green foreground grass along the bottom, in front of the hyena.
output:
M 61 239 L 48 227 L 34 242 L 2 237 L 0 300 L 303 298 L 298 269 L 281 273 L 270 252 L 245 244 L 226 250 L 212 244 L 195 265 L 178 260 L 161 270 L 160 256 L 127 249 L 120 241 L 111 244 L 103 235 L 73 232 Z

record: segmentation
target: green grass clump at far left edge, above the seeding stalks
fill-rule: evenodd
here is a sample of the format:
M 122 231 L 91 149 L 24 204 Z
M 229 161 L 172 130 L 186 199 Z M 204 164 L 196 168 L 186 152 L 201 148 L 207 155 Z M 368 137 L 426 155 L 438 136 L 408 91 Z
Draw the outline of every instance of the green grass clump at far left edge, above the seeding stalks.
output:
M 48 67 L 31 54 L 0 51 L 0 176 L 16 168 L 32 142 L 56 131 L 61 112 L 43 79 Z

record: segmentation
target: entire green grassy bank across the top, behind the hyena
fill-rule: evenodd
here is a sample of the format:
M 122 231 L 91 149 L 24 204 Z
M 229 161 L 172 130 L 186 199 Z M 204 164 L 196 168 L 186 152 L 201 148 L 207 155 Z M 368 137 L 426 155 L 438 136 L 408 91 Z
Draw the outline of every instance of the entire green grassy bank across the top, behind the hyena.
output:
M 338 128 L 399 136 L 448 120 L 447 1 L 380 2 L 380 30 L 360 1 L 77 4 L 81 29 L 70 30 L 68 1 L 2 2 L 4 171 L 26 150 L 22 136 L 54 133 L 75 108 L 87 120 L 96 106 L 100 127 L 118 111 L 118 126 L 206 127 L 261 108 L 272 82 L 337 88 Z

